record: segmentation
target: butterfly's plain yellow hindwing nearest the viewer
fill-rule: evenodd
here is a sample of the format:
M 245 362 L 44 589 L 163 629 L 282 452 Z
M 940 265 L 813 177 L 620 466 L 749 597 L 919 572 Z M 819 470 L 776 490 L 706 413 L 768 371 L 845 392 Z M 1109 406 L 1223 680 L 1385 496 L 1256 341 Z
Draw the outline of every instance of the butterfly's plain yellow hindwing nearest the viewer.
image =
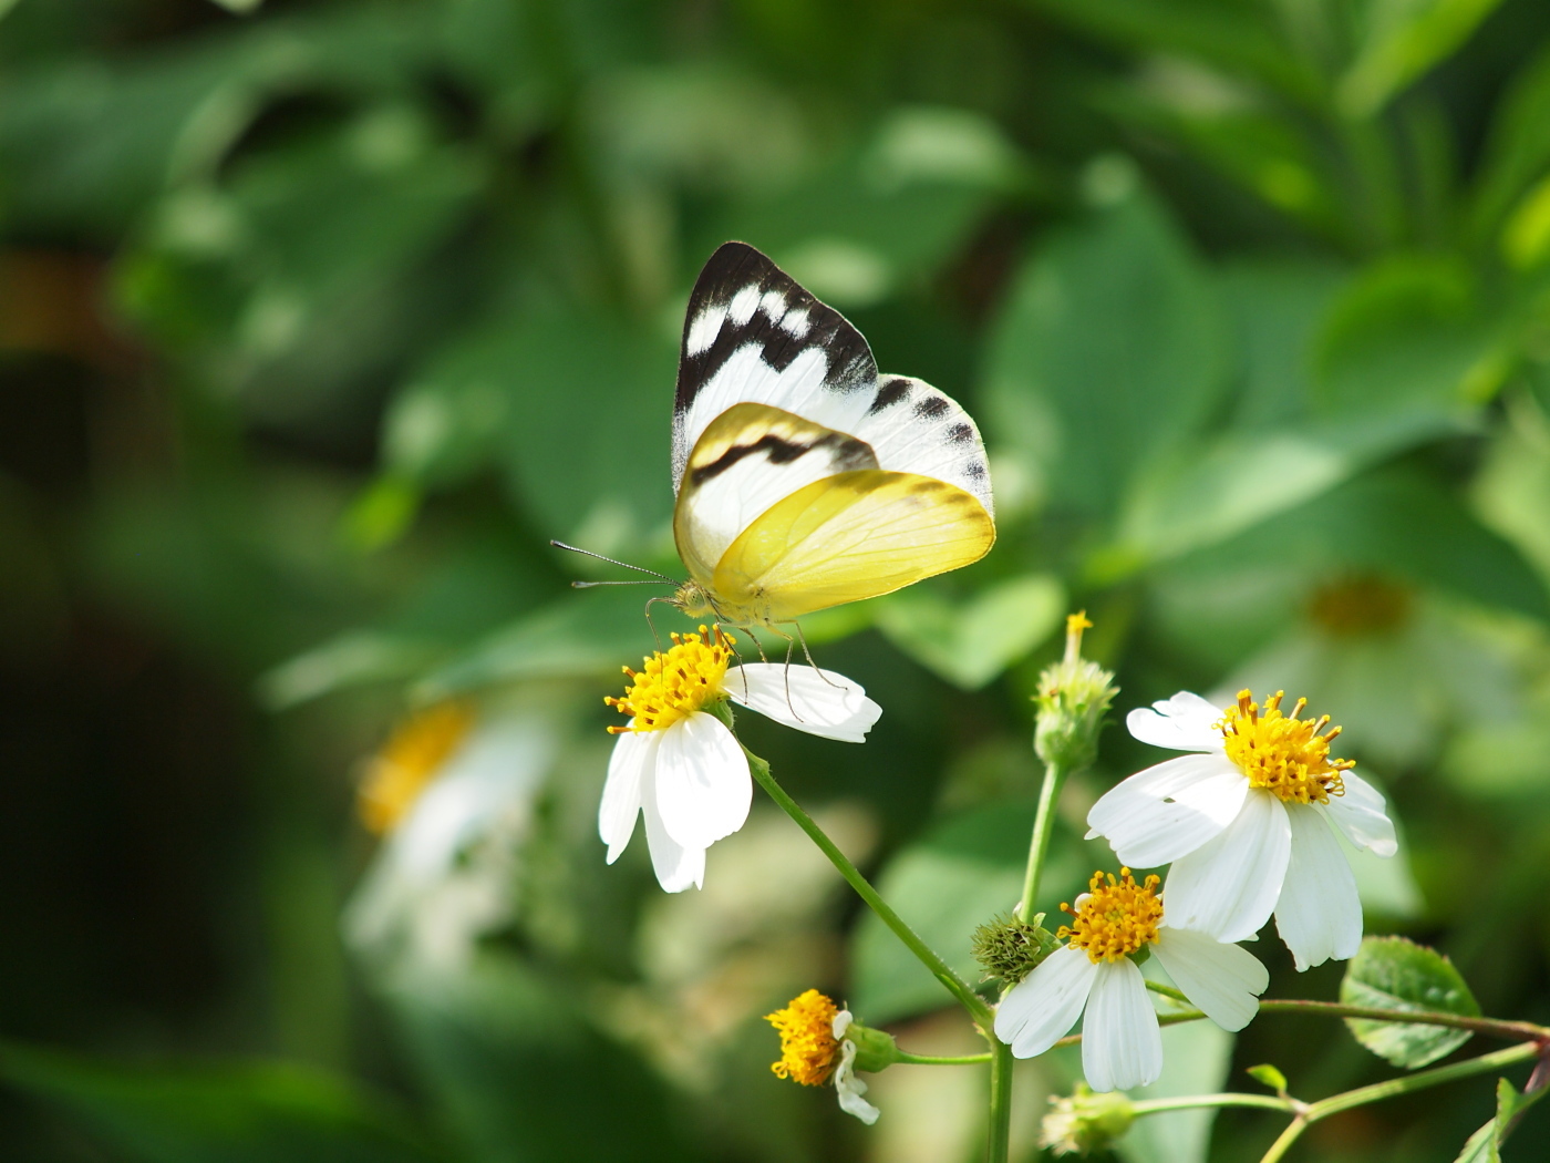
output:
M 719 609 L 773 623 L 891 594 L 978 561 L 995 523 L 956 485 L 882 468 L 837 473 L 770 506 L 711 580 Z

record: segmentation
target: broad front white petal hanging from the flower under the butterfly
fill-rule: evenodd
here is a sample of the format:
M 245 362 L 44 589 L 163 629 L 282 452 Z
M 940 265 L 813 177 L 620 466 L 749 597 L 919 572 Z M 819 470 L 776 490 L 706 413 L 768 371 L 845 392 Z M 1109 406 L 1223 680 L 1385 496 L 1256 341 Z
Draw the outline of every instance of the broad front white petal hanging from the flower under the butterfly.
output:
M 753 778 L 736 737 L 715 715 L 696 712 L 662 732 L 657 809 L 668 836 L 708 848 L 749 819 Z

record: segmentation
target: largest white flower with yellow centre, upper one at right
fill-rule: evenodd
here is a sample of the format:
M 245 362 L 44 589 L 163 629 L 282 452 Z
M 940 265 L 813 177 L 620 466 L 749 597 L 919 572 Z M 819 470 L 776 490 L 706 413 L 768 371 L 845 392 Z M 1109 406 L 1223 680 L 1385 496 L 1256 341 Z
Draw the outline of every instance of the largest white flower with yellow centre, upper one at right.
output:
M 1245 690 L 1221 712 L 1180 692 L 1132 710 L 1138 740 L 1197 754 L 1124 780 L 1087 822 L 1125 864 L 1173 865 L 1169 910 L 1184 927 L 1246 941 L 1276 913 L 1300 971 L 1361 944 L 1356 878 L 1335 828 L 1378 856 L 1398 845 L 1383 795 L 1350 760 L 1330 758 L 1341 729 L 1328 715 L 1297 718 L 1307 699 L 1282 713 L 1282 698 L 1262 710 Z

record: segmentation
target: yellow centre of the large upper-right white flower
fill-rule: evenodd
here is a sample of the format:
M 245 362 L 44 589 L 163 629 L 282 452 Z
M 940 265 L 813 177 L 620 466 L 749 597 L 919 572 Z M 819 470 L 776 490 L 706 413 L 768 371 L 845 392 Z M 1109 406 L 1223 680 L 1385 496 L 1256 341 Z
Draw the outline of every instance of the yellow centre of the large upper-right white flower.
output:
M 1248 690 L 1238 692 L 1238 706 L 1229 707 L 1217 724 L 1228 758 L 1249 777 L 1251 788 L 1265 788 L 1285 803 L 1328 803 L 1330 795 L 1345 794 L 1341 772 L 1356 763 L 1330 758 L 1330 741 L 1341 729 L 1330 727 L 1328 715 L 1299 720 L 1307 699 L 1297 699 L 1291 715 L 1282 715 L 1285 696 L 1286 692 L 1277 690 L 1260 712 Z

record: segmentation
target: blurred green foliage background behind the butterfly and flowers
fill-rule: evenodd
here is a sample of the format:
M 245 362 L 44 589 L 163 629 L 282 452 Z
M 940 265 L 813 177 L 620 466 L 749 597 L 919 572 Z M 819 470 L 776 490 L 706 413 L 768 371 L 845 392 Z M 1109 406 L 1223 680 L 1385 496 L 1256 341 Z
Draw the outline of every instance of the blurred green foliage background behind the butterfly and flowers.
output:
M 618 572 L 547 540 L 680 574 L 676 340 L 730 237 L 990 448 L 989 558 L 808 623 L 871 740 L 741 724 L 908 920 L 969 972 L 1015 902 L 1028 695 L 1085 606 L 1121 710 L 1252 684 L 1342 723 L 1404 836 L 1359 864 L 1369 932 L 1550 1019 L 1542 0 L 0 12 L 5 1158 L 975 1155 L 978 1068 L 876 1076 L 873 1130 L 769 1073 L 760 1016 L 812 985 L 975 1048 L 783 816 L 673 898 L 595 837 L 649 591 L 574 592 Z M 473 726 L 374 837 L 370 757 L 446 699 Z M 1048 904 L 1156 758 L 1110 727 Z M 1273 996 L 1335 996 L 1256 952 Z M 1167 1039 L 1156 1093 L 1392 1073 L 1311 1019 Z M 1020 1068 L 1020 1158 L 1071 1070 Z M 1491 1104 L 1364 1107 L 1294 1155 L 1448 1163 Z

